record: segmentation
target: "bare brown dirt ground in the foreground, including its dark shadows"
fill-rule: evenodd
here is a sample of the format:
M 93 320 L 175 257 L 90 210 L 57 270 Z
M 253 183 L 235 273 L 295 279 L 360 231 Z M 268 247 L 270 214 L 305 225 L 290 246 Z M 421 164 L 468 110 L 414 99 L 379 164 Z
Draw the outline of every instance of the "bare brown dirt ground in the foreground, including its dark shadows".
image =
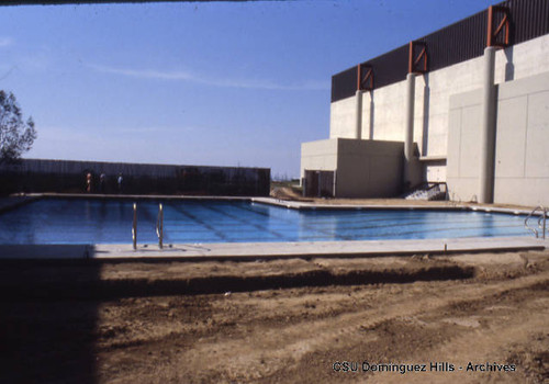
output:
M 547 250 L 15 263 L 0 292 L 1 383 L 549 382 Z

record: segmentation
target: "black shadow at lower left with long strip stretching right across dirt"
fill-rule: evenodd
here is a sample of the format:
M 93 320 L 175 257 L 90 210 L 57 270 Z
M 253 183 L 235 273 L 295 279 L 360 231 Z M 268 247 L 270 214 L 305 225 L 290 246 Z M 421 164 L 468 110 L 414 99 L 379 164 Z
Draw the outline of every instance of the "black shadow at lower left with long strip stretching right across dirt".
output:
M 290 269 L 274 274 L 251 273 L 248 269 L 247 274 L 107 278 L 102 274 L 105 264 L 90 259 L 4 260 L 0 271 L 0 361 L 5 369 L 0 370 L 0 383 L 97 383 L 98 314 L 103 303 L 124 297 L 406 283 L 474 275 L 473 268 L 444 262 L 414 266 L 407 270 L 337 272 L 312 264 L 312 270 Z M 132 272 L 132 268 L 127 266 L 126 272 Z M 139 268 L 147 272 L 153 266 L 142 263 Z

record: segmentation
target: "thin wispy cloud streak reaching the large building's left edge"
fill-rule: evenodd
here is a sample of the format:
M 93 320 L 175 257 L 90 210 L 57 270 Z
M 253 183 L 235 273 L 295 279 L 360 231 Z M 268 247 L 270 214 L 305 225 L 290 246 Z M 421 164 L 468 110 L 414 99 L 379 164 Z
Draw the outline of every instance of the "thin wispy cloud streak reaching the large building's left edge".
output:
M 90 68 L 104 72 L 134 77 L 138 79 L 157 79 L 172 81 L 190 81 L 212 87 L 223 88 L 244 88 L 244 89 L 264 89 L 282 91 L 316 91 L 329 89 L 325 81 L 307 81 L 299 84 L 280 84 L 265 80 L 236 80 L 236 79 L 212 79 L 198 76 L 188 71 L 166 71 L 152 69 L 114 68 L 101 65 L 90 64 Z

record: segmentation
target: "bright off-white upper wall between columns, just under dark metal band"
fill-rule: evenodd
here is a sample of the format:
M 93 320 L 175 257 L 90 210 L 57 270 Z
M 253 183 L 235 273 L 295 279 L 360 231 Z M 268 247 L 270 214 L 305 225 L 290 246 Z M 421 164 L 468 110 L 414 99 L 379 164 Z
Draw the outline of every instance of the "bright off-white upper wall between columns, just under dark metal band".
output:
M 449 129 L 450 95 L 475 90 L 482 82 L 483 57 L 418 76 L 415 90 L 414 142 L 422 156 L 445 157 Z M 549 35 L 496 54 L 495 82 L 524 79 L 549 70 Z M 362 136 L 376 140 L 404 140 L 405 81 L 362 95 Z M 355 97 L 330 105 L 329 137 L 355 137 Z M 373 106 L 373 110 L 371 109 Z M 371 123 L 373 125 L 371 125 Z M 370 135 L 371 134 L 371 135 Z M 429 181 L 444 181 L 440 165 L 427 166 Z

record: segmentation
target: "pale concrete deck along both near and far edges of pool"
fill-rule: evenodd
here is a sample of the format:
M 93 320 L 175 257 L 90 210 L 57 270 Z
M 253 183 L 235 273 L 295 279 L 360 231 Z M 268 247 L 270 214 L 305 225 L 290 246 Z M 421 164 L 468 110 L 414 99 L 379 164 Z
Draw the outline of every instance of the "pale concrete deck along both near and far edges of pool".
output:
M 20 206 L 40 197 L 93 197 L 93 199 L 172 199 L 190 200 L 211 196 L 161 196 L 161 195 L 87 195 L 87 194 L 29 194 L 0 201 L 0 211 Z M 217 197 L 214 197 L 220 200 Z M 222 200 L 247 200 L 254 203 L 271 204 L 294 210 L 467 210 L 501 212 L 506 214 L 529 214 L 528 208 L 506 208 L 492 205 L 426 205 L 406 204 L 378 205 L 335 205 L 311 202 L 296 202 L 272 197 L 222 197 Z M 9 204 L 11 202 L 11 205 Z M 374 256 L 413 256 L 446 255 L 489 251 L 542 250 L 549 247 L 549 239 L 530 237 L 480 237 L 424 240 L 365 240 L 365 241 L 309 241 L 309 242 L 224 242 L 224 244 L 173 244 L 158 245 L 138 244 L 134 250 L 132 245 L 0 245 L 0 260 L 66 260 L 88 259 L 98 261 L 114 260 L 254 260 L 277 258 L 314 258 L 314 257 L 374 257 Z

